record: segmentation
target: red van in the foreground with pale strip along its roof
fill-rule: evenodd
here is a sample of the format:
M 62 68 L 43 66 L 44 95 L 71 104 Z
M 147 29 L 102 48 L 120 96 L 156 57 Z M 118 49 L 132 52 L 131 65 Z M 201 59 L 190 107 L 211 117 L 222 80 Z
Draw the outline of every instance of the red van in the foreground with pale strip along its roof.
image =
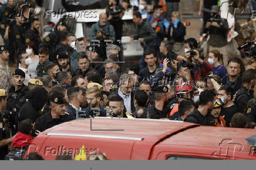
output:
M 207 127 L 169 120 L 86 118 L 56 125 L 36 137 L 26 155 L 55 160 L 63 152 L 76 160 L 92 154 L 107 159 L 256 159 L 247 138 L 255 130 Z M 26 157 L 25 155 L 25 157 Z

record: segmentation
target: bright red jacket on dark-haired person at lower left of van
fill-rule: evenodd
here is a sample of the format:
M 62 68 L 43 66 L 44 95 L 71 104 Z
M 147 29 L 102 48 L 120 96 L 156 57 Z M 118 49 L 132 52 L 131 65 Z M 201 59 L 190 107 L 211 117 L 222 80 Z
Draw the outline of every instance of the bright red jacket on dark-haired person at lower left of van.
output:
M 11 149 L 13 149 L 14 147 L 16 147 L 16 148 L 25 147 L 26 145 L 31 144 L 32 140 L 33 140 L 32 135 L 23 134 L 22 132 L 18 132 L 18 134 L 16 135 L 14 140 L 12 140 Z

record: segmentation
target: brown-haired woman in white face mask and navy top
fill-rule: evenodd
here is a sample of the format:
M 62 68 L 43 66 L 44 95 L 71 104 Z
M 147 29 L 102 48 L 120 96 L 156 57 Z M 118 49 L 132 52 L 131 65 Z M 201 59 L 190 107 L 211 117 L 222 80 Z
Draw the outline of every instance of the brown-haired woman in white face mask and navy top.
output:
M 213 74 L 222 78 L 227 76 L 227 69 L 223 66 L 223 55 L 218 50 L 209 53 L 208 62 L 213 66 Z

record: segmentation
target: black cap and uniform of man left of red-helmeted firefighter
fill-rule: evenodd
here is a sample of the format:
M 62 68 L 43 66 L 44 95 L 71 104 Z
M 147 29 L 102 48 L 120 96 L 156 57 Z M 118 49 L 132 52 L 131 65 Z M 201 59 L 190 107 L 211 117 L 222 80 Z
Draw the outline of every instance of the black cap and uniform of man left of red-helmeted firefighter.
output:
M 157 86 L 153 89 L 154 93 L 167 93 L 168 92 L 168 87 L 167 86 Z M 150 106 L 148 108 L 149 114 L 150 114 L 150 118 L 154 118 L 154 119 L 160 119 L 160 118 L 166 118 L 166 114 L 164 114 L 163 110 L 158 110 L 155 107 L 155 104 L 153 104 L 152 106 Z

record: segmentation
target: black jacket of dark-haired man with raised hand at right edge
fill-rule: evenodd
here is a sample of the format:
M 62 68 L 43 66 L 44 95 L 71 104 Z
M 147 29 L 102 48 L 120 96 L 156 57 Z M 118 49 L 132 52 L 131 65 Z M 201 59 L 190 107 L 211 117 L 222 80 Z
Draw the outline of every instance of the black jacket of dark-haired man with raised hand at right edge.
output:
M 244 86 L 242 86 L 242 88 L 237 91 L 234 103 L 237 104 L 238 111 L 240 113 L 244 113 L 247 103 L 251 98 L 254 98 L 253 91 L 250 90 L 248 93 L 248 89 Z

